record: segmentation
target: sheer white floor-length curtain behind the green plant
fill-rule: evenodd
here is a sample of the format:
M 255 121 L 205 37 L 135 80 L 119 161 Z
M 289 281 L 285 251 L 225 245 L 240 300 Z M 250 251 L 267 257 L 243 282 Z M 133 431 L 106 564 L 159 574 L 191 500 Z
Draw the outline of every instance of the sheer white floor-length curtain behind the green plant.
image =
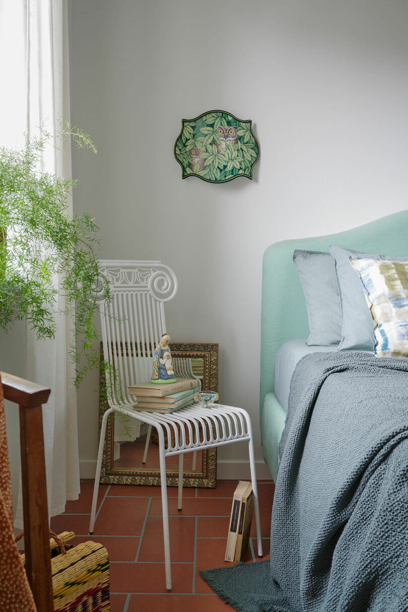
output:
M 0 56 L 9 77 L 3 81 L 9 83 L 9 95 L 0 100 L 0 146 L 21 147 L 23 132 L 38 134 L 40 125 L 56 133 L 59 119 L 69 120 L 67 0 L 0 0 Z M 43 152 L 43 170 L 70 176 L 70 147 L 64 147 L 61 151 L 50 146 Z M 72 201 L 68 204 L 72 214 Z M 63 310 L 64 297 L 58 300 Z M 78 499 L 80 491 L 69 343 L 70 321 L 65 315 L 57 315 L 54 340 L 37 340 L 26 329 L 26 378 L 51 388 L 50 400 L 43 406 L 50 517 L 64 512 L 67 499 Z M 23 527 L 21 495 L 15 525 Z

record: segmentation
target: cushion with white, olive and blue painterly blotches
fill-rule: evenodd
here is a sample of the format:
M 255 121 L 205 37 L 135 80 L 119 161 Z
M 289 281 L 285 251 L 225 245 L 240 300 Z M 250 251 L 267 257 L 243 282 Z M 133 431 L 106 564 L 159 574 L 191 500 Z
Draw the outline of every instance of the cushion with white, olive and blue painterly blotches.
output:
M 408 262 L 349 259 L 374 320 L 377 357 L 408 357 Z

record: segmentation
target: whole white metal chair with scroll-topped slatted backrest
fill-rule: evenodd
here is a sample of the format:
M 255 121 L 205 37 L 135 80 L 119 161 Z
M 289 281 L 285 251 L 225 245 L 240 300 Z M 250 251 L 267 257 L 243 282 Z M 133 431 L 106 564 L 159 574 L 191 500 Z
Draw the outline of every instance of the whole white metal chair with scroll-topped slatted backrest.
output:
M 248 442 L 258 554 L 262 556 L 252 429 L 248 413 L 242 408 L 222 405 L 213 405 L 209 410 L 201 403 L 170 414 L 144 412 L 137 410 L 136 398 L 128 394 L 128 385 L 150 378 L 152 351 L 158 338 L 166 331 L 164 304 L 177 291 L 174 272 L 160 261 L 105 260 L 100 261 L 100 270 L 111 281 L 112 292 L 111 302 L 101 302 L 99 305 L 103 354 L 108 365 L 105 371 L 109 408 L 102 419 L 89 532 L 94 531 L 106 423 L 110 414 L 121 412 L 138 424 L 147 424 L 148 438 L 151 428 L 157 428 L 166 588 L 171 589 L 171 566 L 165 460 L 171 455 L 179 455 L 178 508 L 181 510 L 184 453 L 232 442 Z M 179 368 L 179 373 L 182 375 L 182 368 Z

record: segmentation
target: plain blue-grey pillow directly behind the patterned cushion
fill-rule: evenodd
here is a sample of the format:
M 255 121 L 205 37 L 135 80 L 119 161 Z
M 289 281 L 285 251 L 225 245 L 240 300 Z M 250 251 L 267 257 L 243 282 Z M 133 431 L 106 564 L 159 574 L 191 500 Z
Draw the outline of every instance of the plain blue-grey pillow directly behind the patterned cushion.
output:
M 373 351 L 374 321 L 366 304 L 362 283 L 349 262 L 350 257 L 382 259 L 383 261 L 407 261 L 401 257 L 388 257 L 371 253 L 360 253 L 351 248 L 330 247 L 335 261 L 338 288 L 343 313 L 341 351 Z

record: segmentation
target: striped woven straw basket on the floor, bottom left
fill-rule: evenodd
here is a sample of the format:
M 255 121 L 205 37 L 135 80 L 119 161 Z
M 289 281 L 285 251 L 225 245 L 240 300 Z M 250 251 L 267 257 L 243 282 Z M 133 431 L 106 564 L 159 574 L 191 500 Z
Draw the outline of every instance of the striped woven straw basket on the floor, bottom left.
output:
M 63 544 L 75 537 L 71 531 L 58 535 Z M 54 612 L 109 612 L 108 551 L 97 542 L 61 546 L 50 540 Z M 23 562 L 24 562 L 24 555 Z

